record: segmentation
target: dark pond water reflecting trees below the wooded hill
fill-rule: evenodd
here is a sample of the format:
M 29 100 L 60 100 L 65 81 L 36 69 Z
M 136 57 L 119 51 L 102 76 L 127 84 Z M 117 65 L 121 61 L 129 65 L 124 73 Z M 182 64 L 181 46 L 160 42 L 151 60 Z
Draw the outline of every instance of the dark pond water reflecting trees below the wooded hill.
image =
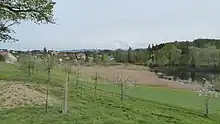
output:
M 154 67 L 150 71 L 155 73 L 159 78 L 172 80 L 185 84 L 200 84 L 204 83 L 203 78 L 206 78 L 210 83 L 215 85 L 216 89 L 220 89 L 220 71 L 218 68 L 167 68 Z

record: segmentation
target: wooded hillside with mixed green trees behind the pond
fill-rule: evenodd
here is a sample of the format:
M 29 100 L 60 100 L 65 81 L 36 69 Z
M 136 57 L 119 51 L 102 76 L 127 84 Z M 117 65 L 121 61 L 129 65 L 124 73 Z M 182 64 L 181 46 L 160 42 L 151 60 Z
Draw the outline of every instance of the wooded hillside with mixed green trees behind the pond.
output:
M 220 65 L 220 40 L 196 39 L 149 45 L 145 49 L 100 50 L 98 54 L 113 55 L 119 63 L 150 67 L 208 67 Z

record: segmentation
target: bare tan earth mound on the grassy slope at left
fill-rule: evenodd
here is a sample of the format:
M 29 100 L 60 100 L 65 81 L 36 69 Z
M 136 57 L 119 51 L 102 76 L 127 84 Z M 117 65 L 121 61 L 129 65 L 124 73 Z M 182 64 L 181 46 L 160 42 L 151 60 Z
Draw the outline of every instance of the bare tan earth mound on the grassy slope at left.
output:
M 0 81 L 0 106 L 3 108 L 42 105 L 45 104 L 45 98 L 44 93 L 30 89 L 22 83 Z M 55 99 L 49 97 L 49 105 L 54 102 Z

